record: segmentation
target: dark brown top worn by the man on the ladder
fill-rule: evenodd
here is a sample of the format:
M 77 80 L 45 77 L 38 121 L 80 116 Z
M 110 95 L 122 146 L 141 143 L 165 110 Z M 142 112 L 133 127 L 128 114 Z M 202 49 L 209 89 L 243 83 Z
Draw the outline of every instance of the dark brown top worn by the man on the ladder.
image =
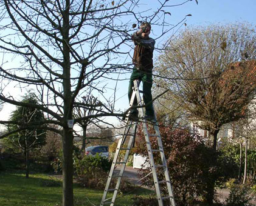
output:
M 152 70 L 153 68 L 153 51 L 156 41 L 152 38 L 142 39 L 133 33 L 131 38 L 136 45 L 133 53 L 133 64 L 142 71 Z

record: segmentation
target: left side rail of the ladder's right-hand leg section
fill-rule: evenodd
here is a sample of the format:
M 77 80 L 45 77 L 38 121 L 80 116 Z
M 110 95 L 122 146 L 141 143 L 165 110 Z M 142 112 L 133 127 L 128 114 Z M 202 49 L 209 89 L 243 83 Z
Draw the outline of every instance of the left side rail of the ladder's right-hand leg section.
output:
M 134 81 L 134 89 L 136 91 L 138 105 L 142 106 L 144 102 L 142 101 L 142 98 L 140 98 L 139 86 L 137 84 L 137 81 Z M 144 113 L 142 107 L 140 107 L 139 110 L 140 110 L 140 113 Z M 157 174 L 156 174 L 156 165 L 154 164 L 154 156 L 153 156 L 153 152 L 152 152 L 152 148 L 151 148 L 150 136 L 148 135 L 147 123 L 144 121 L 142 125 L 143 125 L 142 127 L 144 130 L 144 136 L 145 136 L 145 141 L 146 141 L 147 150 L 148 150 L 148 157 L 150 159 L 151 171 L 152 171 L 153 179 L 154 179 L 154 187 L 156 188 L 157 201 L 158 201 L 159 206 L 164 206 L 164 203 L 163 203 L 162 197 L 161 197 L 159 181 L 158 181 Z

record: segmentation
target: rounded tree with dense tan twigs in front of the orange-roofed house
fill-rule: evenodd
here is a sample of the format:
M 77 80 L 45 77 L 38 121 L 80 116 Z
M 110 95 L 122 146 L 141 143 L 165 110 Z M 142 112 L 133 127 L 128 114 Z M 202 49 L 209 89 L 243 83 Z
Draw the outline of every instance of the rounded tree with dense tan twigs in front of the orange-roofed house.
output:
M 159 58 L 159 87 L 209 131 L 215 151 L 221 126 L 243 118 L 255 95 L 255 47 L 250 25 L 210 25 L 184 30 Z M 212 204 L 214 182 L 209 187 Z

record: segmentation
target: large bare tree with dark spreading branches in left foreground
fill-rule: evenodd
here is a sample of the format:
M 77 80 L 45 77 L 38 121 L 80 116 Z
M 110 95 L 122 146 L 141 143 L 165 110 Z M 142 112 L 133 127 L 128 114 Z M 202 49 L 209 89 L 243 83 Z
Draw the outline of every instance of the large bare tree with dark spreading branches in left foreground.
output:
M 181 1 L 180 5 L 185 2 L 190 1 Z M 168 23 L 170 1 L 157 1 L 157 4 L 156 8 L 147 10 L 139 0 L 3 0 L 0 3 L 3 56 L 0 100 L 44 112 L 44 121 L 22 125 L 20 130 L 36 125 L 62 136 L 64 206 L 73 205 L 74 136 L 67 122 L 74 119 L 77 123 L 92 118 L 92 115 L 73 116 L 75 107 L 86 106 L 79 99 L 91 94 L 92 90 L 105 99 L 104 104 L 93 103 L 95 110 L 99 110 L 94 118 L 122 116 L 120 112 L 115 113 L 115 96 L 109 99 L 106 95 L 107 81 L 114 79 L 111 75 L 130 70 L 128 42 L 136 24 L 150 21 L 161 28 L 159 38 L 175 27 Z M 5 60 L 7 56 L 8 61 Z M 122 57 L 126 58 L 122 60 Z M 18 95 L 9 92 L 10 86 L 20 91 L 35 88 L 41 103 L 20 102 Z M 47 127 L 47 124 L 58 125 L 61 129 Z

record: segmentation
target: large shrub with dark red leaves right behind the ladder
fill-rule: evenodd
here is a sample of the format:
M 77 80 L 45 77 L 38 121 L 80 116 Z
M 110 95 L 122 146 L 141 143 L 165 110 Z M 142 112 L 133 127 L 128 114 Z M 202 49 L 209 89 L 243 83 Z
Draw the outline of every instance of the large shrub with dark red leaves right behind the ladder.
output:
M 217 164 L 214 161 L 213 157 L 216 152 L 204 144 L 201 136 L 192 135 L 189 131 L 172 130 L 165 126 L 161 126 L 159 129 L 176 204 L 179 206 L 192 205 L 198 202 L 199 198 L 206 199 L 210 192 L 207 191 L 207 188 L 221 177 L 219 171 L 223 171 L 220 169 L 223 164 Z M 152 128 L 149 131 L 152 133 Z M 151 140 L 151 147 L 157 148 L 157 139 Z M 141 127 L 137 130 L 135 152 L 148 155 Z M 154 156 L 156 157 L 155 164 L 159 164 L 160 156 Z M 140 176 L 144 177 L 149 172 L 150 168 L 140 170 Z M 157 168 L 157 174 L 160 180 L 164 179 L 161 169 Z M 148 187 L 154 187 L 152 175 L 143 179 L 142 182 Z M 163 192 L 167 193 L 167 191 Z

